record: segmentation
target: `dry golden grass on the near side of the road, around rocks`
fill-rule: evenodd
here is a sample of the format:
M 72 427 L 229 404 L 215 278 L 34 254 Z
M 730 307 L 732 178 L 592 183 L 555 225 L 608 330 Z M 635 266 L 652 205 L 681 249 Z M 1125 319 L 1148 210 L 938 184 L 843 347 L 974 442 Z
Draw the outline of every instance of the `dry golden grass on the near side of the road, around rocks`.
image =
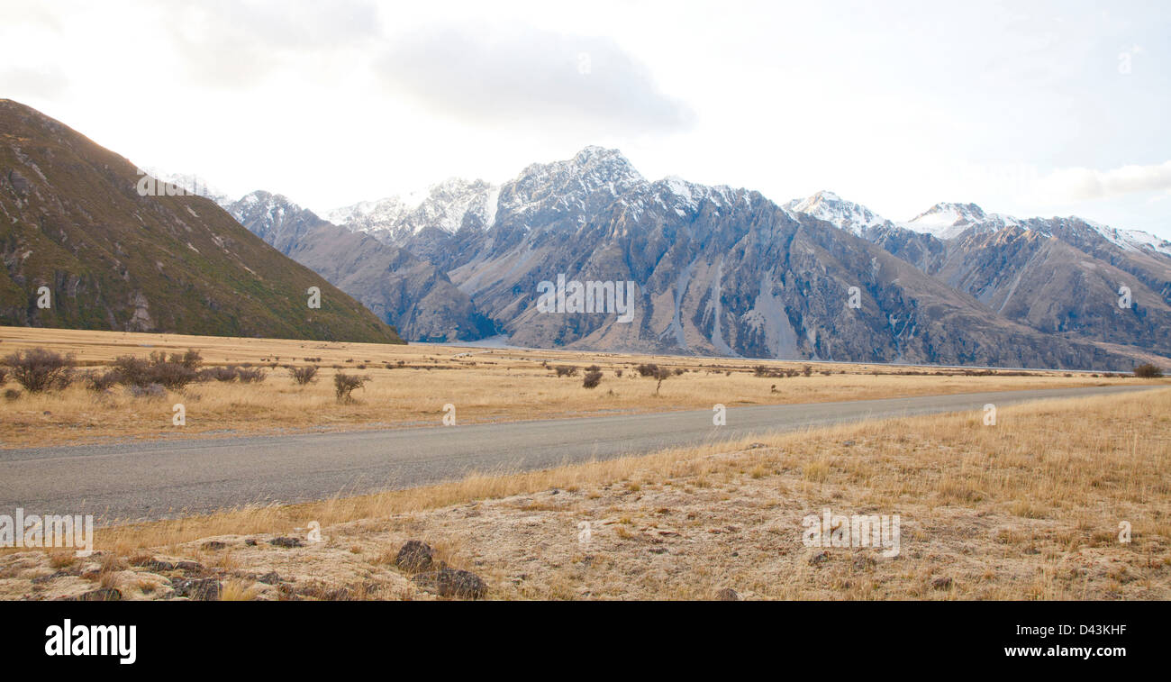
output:
M 429 599 L 392 566 L 419 538 L 498 599 L 711 599 L 727 587 L 751 599 L 1171 598 L 1171 390 L 1007 407 L 994 427 L 981 417 L 867 422 L 100 528 L 109 554 L 89 564 L 119 586 L 116 558 L 145 553 L 219 567 L 242 581 L 237 598 L 288 598 L 248 582 L 275 570 L 302 595 Z M 899 555 L 829 548 L 812 561 L 801 519 L 824 507 L 899 514 Z M 303 537 L 310 520 L 324 541 L 263 541 Z M 581 521 L 593 524 L 587 545 Z M 211 537 L 228 550 L 204 551 Z M 245 546 L 248 537 L 261 541 Z M 53 572 L 50 557 L 0 558 L 0 596 L 26 594 L 32 577 Z

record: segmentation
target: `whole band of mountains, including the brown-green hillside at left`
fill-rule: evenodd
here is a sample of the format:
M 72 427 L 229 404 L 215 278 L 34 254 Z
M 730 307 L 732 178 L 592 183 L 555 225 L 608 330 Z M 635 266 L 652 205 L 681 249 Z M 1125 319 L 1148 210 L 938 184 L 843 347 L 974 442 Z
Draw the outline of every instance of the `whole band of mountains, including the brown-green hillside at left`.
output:
M 152 172 L 193 193 L 142 196 L 130 162 L 15 102 L 0 101 L 0 323 L 1104 370 L 1171 357 L 1171 243 L 1075 217 L 941 203 L 893 221 L 828 191 L 778 204 L 650 180 L 598 146 L 321 217 L 190 175 Z M 550 314 L 552 281 L 630 282 L 632 315 Z

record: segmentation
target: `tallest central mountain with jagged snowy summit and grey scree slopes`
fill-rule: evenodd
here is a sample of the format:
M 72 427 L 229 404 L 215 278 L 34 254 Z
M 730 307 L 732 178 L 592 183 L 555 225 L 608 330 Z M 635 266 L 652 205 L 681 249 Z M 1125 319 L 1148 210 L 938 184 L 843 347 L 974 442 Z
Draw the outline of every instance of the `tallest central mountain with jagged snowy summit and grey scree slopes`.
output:
M 874 233 L 940 240 L 863 207 L 822 216 Z M 812 205 L 813 203 L 810 203 Z M 419 251 L 479 309 L 534 347 L 755 357 L 903 360 L 1026 367 L 1128 366 L 1117 349 L 997 315 L 875 243 L 783 209 L 759 192 L 680 178 L 646 180 L 616 150 L 533 164 L 500 189 L 485 230 L 441 233 Z M 636 284 L 635 319 L 549 315 L 537 284 Z M 861 309 L 845 307 L 850 287 Z M 1109 311 L 1108 307 L 1103 307 Z

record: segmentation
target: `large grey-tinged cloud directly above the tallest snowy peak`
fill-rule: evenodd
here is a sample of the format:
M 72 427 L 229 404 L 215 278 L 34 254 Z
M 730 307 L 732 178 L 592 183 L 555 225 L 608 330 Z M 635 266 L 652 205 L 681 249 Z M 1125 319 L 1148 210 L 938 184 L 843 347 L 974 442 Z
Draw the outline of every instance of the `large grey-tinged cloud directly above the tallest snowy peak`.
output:
M 692 121 L 608 37 L 432 25 L 398 36 L 375 68 L 396 94 L 464 122 L 660 134 Z

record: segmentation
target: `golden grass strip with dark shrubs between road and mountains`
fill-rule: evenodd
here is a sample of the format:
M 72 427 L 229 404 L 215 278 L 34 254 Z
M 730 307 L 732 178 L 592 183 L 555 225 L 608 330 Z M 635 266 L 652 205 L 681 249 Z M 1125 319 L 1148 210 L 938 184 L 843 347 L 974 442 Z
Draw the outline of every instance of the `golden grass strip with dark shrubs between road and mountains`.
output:
M 754 376 L 753 367 L 801 369 L 804 363 L 0 327 L 0 356 L 37 346 L 74 354 L 82 366 L 93 369 L 101 369 L 119 355 L 145 356 L 153 350 L 182 353 L 186 348 L 199 349 L 208 364 L 279 367 L 268 369 L 267 380 L 260 384 L 212 381 L 169 391 L 158 398 L 136 398 L 121 387 L 108 395 L 95 395 L 81 386 L 64 391 L 23 394 L 14 401 L 0 398 L 0 448 L 118 438 L 438 425 L 446 404 L 454 405 L 459 423 L 474 423 L 710 409 L 717 402 L 731 407 L 1123 381 L 1151 383 L 1087 374 L 1064 376 L 1052 371 L 1030 373 L 1030 376 L 965 376 L 961 370 L 834 363 L 813 364 L 810 376 L 776 378 Z M 635 370 L 643 362 L 687 371 L 664 381 L 659 395 L 655 395 L 656 382 L 638 377 Z M 316 383 L 299 387 L 289 371 L 280 367 L 285 364 L 319 364 L 322 370 Z M 582 388 L 581 370 L 577 376 L 556 377 L 553 368 L 561 364 L 578 368 L 597 364 L 604 374 L 602 384 L 595 389 Z M 616 376 L 619 370 L 621 377 Z M 333 387 L 337 371 L 367 375 L 371 381 L 355 391 L 355 402 L 340 404 Z M 896 371 L 930 374 L 908 376 Z M 15 387 L 11 380 L 5 386 Z M 184 427 L 172 425 L 174 403 L 185 407 Z

